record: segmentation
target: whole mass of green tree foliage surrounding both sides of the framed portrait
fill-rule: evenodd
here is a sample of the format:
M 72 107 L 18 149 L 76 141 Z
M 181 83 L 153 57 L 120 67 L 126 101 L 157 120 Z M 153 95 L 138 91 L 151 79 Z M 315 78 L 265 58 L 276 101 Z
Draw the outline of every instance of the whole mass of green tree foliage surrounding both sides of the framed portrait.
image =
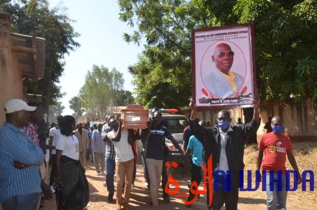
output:
M 119 0 L 120 20 L 137 25 L 124 40 L 145 50 L 129 67 L 136 100 L 185 106 L 191 95 L 191 29 L 254 24 L 257 84 L 263 100 L 317 100 L 317 2 Z

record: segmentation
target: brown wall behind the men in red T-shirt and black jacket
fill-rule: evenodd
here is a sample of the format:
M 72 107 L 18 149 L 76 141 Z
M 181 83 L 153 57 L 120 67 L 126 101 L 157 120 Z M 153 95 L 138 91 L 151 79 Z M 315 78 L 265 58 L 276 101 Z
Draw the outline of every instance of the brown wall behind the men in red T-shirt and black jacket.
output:
M 270 116 L 279 115 L 283 117 L 285 133 L 290 136 L 292 141 L 317 141 L 317 104 L 311 100 L 305 100 L 301 103 L 284 103 L 281 101 L 263 102 L 260 104 L 261 125 L 257 131 L 257 139 L 266 133 L 264 126 Z M 205 111 L 206 118 L 203 118 L 203 112 L 197 112 L 197 117 L 213 123 L 217 120 L 217 113 L 220 110 Z M 228 109 L 234 126 L 239 117 L 244 122 L 241 115 L 241 109 Z

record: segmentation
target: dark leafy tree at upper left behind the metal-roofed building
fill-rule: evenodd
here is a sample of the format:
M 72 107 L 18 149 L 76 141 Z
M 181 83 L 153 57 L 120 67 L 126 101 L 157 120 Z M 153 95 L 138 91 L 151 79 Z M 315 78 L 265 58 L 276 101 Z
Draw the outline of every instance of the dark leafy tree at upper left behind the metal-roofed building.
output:
M 45 107 L 56 104 L 63 96 L 56 85 L 64 71 L 62 59 L 80 46 L 74 40 L 79 34 L 74 31 L 73 21 L 66 15 L 65 8 L 50 9 L 46 0 L 0 0 L 0 8 L 1 12 L 11 15 L 12 32 L 45 38 L 44 78 L 25 79 L 24 85 L 30 93 L 42 95 Z

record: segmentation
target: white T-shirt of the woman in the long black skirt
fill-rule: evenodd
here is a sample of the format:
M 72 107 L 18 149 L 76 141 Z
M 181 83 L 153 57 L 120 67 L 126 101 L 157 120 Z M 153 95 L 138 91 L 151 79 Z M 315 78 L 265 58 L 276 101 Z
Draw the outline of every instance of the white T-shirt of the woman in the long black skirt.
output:
M 60 135 L 56 141 L 56 149 L 62 150 L 62 155 L 79 160 L 79 142 L 76 135 Z

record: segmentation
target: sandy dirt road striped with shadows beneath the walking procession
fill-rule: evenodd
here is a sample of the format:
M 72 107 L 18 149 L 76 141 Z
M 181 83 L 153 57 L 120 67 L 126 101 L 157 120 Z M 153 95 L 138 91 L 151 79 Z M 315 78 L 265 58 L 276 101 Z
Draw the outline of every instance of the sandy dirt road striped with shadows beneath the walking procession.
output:
M 190 173 L 186 173 L 186 177 L 182 178 L 179 174 L 178 169 L 174 169 L 172 172 L 173 178 L 180 184 L 180 191 L 188 192 L 187 184 L 190 181 Z M 86 166 L 86 177 L 90 183 L 90 206 L 85 209 L 115 209 L 115 202 L 109 203 L 107 196 L 107 187 L 103 186 L 104 176 L 97 176 L 95 167 L 92 162 L 87 161 Z M 203 185 L 200 185 L 200 189 L 203 189 Z M 289 192 L 287 208 L 288 209 L 317 209 L 317 197 L 310 203 L 301 202 L 301 197 L 307 196 L 309 193 L 315 192 Z M 311 196 L 311 194 L 309 194 Z M 115 197 L 114 197 L 115 198 Z M 132 188 L 130 209 L 152 209 L 148 204 L 149 196 L 148 190 L 145 186 L 142 165 L 137 165 L 137 174 L 135 180 L 135 186 Z M 42 209 L 54 209 L 51 202 L 45 202 L 45 207 Z M 159 205 L 160 209 L 171 210 L 171 209 L 206 209 L 206 195 L 201 195 L 200 200 L 197 200 L 187 208 L 180 198 L 176 198 L 175 195 L 170 196 L 170 203 L 166 204 L 162 199 L 162 189 L 159 190 Z M 239 192 L 239 203 L 238 209 L 240 210 L 254 210 L 254 209 L 266 209 L 266 193 L 260 189 L 256 191 L 240 191 Z

